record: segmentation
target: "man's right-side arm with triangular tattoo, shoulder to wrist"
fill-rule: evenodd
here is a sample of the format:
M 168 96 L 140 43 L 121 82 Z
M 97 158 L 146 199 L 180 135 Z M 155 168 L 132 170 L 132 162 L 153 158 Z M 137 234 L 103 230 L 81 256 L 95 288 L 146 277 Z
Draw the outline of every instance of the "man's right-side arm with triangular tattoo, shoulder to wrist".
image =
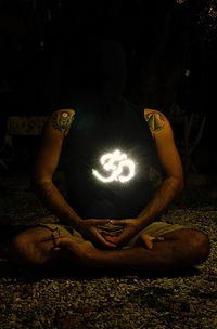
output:
M 165 179 L 155 192 L 153 199 L 138 216 L 143 227 L 153 222 L 155 216 L 170 205 L 183 187 L 182 164 L 169 121 L 161 111 L 152 109 L 145 109 L 144 117 L 155 141 Z

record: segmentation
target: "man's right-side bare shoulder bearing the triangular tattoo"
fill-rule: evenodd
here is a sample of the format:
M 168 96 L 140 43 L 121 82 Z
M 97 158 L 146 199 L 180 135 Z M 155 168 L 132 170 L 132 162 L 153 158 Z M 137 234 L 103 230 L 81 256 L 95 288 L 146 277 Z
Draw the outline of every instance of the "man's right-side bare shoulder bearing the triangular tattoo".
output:
M 153 137 L 163 132 L 171 132 L 171 127 L 166 116 L 156 109 L 144 108 L 144 118 Z

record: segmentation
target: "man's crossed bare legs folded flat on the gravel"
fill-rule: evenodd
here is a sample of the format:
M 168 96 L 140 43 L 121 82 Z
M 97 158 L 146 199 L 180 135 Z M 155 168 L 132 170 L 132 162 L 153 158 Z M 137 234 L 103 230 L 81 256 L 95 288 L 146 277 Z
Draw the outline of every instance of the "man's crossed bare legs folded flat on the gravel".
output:
M 126 249 L 101 250 L 89 241 L 76 241 L 63 227 L 60 232 L 55 246 L 51 233 L 44 227 L 18 234 L 10 246 L 11 261 L 38 266 L 65 259 L 72 267 L 85 267 L 89 274 L 100 269 L 167 275 L 200 264 L 209 254 L 208 237 L 190 228 L 165 234 L 164 240 L 154 242 L 152 250 L 148 250 L 139 239 Z

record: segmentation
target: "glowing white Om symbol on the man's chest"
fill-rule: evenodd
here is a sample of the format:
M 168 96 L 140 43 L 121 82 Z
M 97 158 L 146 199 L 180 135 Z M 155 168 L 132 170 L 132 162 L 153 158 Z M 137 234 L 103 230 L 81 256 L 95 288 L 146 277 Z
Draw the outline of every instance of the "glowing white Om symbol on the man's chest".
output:
M 135 175 L 135 162 L 130 159 L 127 159 L 127 155 L 124 153 L 122 154 L 119 149 L 103 155 L 100 159 L 100 162 L 103 166 L 104 170 L 112 172 L 110 176 L 105 177 L 101 175 L 97 170 L 92 169 L 93 175 L 103 183 L 111 183 L 114 181 L 125 183 L 131 180 Z M 127 175 L 122 174 L 124 167 L 128 168 Z

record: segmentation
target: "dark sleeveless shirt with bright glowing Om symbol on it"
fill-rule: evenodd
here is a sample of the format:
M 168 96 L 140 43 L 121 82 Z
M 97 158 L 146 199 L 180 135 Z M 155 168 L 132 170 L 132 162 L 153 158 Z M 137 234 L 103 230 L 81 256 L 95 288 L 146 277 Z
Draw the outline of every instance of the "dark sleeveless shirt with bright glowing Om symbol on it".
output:
M 92 97 L 75 110 L 62 150 L 69 205 L 84 219 L 137 216 L 158 172 L 143 109 Z

